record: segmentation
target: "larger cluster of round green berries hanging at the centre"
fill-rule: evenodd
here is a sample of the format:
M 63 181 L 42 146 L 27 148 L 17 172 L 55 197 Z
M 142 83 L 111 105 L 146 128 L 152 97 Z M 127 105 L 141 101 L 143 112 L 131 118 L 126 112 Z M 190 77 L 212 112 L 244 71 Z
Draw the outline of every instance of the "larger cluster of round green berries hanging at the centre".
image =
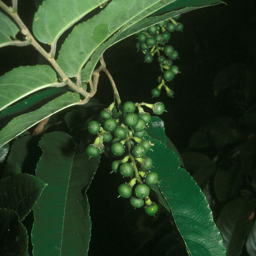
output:
M 96 157 L 105 151 L 104 143 L 110 143 L 112 153 L 122 159 L 114 160 L 112 172 L 119 172 L 129 181 L 119 186 L 119 196 L 130 198 L 134 208 L 144 206 L 148 215 L 155 215 L 158 205 L 149 198 L 149 186 L 157 182 L 157 173 L 151 172 L 153 161 L 146 157 L 151 150 L 151 142 L 146 140 L 145 129 L 151 121 L 151 115 L 143 110 L 143 106 L 151 108 L 153 113 L 160 115 L 165 111 L 162 102 L 155 104 L 125 102 L 122 111 L 116 118 L 112 117 L 114 103 L 100 112 L 100 122 L 88 124 L 90 134 L 97 134 L 96 140 L 86 149 L 89 157 Z M 137 109 L 138 113 L 135 113 Z M 102 126 L 101 126 L 101 124 Z M 124 156 L 125 155 L 125 156 Z M 132 196 L 134 188 L 134 195 Z

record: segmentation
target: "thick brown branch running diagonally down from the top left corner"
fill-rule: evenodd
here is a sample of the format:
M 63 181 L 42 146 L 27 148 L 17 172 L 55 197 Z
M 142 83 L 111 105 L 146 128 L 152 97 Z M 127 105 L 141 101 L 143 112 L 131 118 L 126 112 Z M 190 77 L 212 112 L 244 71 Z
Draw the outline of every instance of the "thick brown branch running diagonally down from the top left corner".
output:
M 26 27 L 26 25 L 23 23 L 23 21 L 20 19 L 19 15 L 17 14 L 17 12 L 14 12 L 14 9 L 12 9 L 12 7 L 7 6 L 5 3 L 3 3 L 2 0 L 0 0 L 0 8 L 2 8 L 9 16 L 12 17 L 12 19 L 17 23 L 17 25 L 20 27 L 20 31 L 23 35 L 26 36 L 26 41 L 30 41 L 32 46 L 41 53 L 41 55 L 44 56 L 44 58 L 47 59 L 47 61 L 49 61 L 50 64 L 52 64 L 52 67 L 55 68 L 55 70 L 58 72 L 58 74 L 61 76 L 61 79 L 63 81 L 67 81 L 68 86 L 74 90 L 77 93 L 80 93 L 81 95 L 83 95 L 85 98 L 89 97 L 90 94 L 84 90 L 83 88 L 77 86 L 76 84 L 74 84 L 68 77 L 67 75 L 64 73 L 64 71 L 61 69 L 61 67 L 57 64 L 57 62 L 55 61 L 54 58 L 52 58 L 51 55 L 49 55 L 48 52 L 46 52 L 44 50 L 43 47 L 41 47 L 40 44 L 38 44 L 38 42 L 35 40 L 35 38 L 33 37 L 33 35 L 29 32 L 29 29 Z

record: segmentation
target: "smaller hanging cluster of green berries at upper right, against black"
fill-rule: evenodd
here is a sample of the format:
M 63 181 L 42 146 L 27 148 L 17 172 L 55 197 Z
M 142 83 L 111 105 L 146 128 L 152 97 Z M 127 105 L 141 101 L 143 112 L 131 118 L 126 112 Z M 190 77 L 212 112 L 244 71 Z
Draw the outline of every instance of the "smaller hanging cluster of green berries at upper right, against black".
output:
M 155 54 L 158 56 L 158 63 L 160 65 L 161 76 L 158 77 L 158 86 L 151 90 L 153 97 L 159 97 L 161 88 L 166 90 L 169 97 L 173 97 L 174 92 L 167 85 L 167 81 L 172 81 L 178 73 L 179 68 L 173 65 L 173 61 L 178 58 L 178 52 L 171 46 L 167 45 L 171 38 L 171 33 L 175 31 L 182 31 L 183 24 L 176 20 L 180 15 L 172 19 L 162 21 L 157 25 L 150 26 L 137 34 L 138 42 L 136 47 L 138 51 L 145 54 L 145 62 L 151 63 Z

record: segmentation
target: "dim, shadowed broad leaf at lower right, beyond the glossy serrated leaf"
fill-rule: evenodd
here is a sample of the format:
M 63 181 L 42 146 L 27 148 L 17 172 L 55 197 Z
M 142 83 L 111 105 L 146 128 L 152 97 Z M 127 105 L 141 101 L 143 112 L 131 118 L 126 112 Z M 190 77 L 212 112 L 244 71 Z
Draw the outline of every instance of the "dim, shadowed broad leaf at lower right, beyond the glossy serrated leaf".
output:
M 254 211 L 255 204 L 241 197 L 233 199 L 221 210 L 217 227 L 221 231 L 227 256 L 241 254 L 245 239 L 252 228 L 253 218 L 250 216 Z

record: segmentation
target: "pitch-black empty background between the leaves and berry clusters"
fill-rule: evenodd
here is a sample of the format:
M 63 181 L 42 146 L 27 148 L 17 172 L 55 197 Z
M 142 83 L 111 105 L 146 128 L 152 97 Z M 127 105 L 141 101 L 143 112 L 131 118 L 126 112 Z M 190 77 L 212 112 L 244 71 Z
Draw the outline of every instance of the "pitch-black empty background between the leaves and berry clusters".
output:
M 162 92 L 160 101 L 168 111 L 162 115 L 166 133 L 180 151 L 205 122 L 217 116 L 236 118 L 238 114 L 234 102 L 239 103 L 239 98 L 221 99 L 213 94 L 213 79 L 220 70 L 233 62 L 255 66 L 256 3 L 226 3 L 227 6 L 221 4 L 182 15 L 179 21 L 184 24 L 183 32 L 173 33 L 170 40 L 179 52 L 180 59 L 175 64 L 181 74 L 171 84 L 175 98 Z M 20 0 L 19 6 L 20 16 L 31 28 L 33 0 Z M 134 36 L 116 44 L 105 53 L 105 62 L 123 102 L 153 103 L 150 91 L 157 86 L 160 70 L 157 61 L 144 63 L 135 44 Z M 37 63 L 38 54 L 31 46 L 0 49 L 0 75 L 20 65 Z M 96 98 L 105 105 L 113 99 L 104 75 L 100 77 Z M 109 175 L 111 160 L 102 162 L 88 191 L 93 223 L 89 255 L 184 255 L 162 214 L 145 218 L 140 210 L 131 210 L 127 201 L 116 198 L 121 179 Z

